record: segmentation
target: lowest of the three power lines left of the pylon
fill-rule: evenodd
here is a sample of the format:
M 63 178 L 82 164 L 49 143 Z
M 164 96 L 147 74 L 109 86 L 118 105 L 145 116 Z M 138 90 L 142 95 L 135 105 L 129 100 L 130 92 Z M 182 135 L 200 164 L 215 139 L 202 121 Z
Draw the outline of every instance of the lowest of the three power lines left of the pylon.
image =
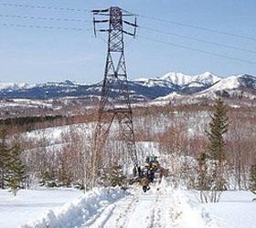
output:
M 90 28 L 78 28 L 78 27 L 62 27 L 62 26 L 36 26 L 36 25 L 23 25 L 23 24 L 12 24 L 2 23 L 0 26 L 5 27 L 20 27 L 20 28 L 38 28 L 38 29 L 52 29 L 52 30 L 69 30 L 69 31 L 91 31 Z

